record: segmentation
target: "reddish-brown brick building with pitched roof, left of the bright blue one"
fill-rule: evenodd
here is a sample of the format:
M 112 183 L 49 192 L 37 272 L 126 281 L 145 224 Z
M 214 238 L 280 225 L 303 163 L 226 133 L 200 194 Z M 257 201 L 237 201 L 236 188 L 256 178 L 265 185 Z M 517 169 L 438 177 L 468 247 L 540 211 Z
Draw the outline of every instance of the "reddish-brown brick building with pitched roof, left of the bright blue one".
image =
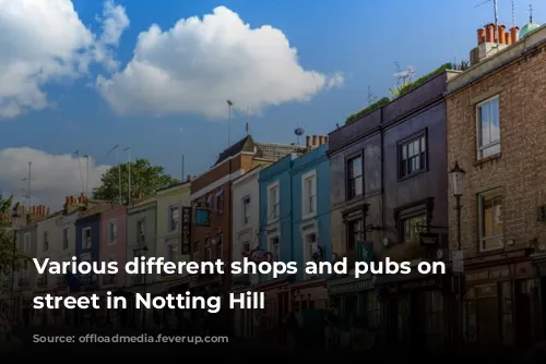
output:
M 247 135 L 222 151 L 214 166 L 191 182 L 191 246 L 193 260 L 232 260 L 232 183 L 258 166 L 269 166 L 298 149 L 298 146 L 257 143 Z M 227 292 L 229 275 L 201 275 L 190 288 Z

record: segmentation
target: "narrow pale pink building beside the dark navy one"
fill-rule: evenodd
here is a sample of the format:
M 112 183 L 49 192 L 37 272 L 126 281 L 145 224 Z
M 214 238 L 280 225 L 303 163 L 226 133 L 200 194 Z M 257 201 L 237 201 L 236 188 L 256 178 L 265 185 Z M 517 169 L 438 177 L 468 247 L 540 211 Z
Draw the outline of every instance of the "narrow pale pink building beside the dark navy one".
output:
M 127 258 L 127 207 L 116 206 L 100 215 L 100 262 L 118 262 L 118 274 L 100 277 L 100 288 L 111 290 L 124 286 Z

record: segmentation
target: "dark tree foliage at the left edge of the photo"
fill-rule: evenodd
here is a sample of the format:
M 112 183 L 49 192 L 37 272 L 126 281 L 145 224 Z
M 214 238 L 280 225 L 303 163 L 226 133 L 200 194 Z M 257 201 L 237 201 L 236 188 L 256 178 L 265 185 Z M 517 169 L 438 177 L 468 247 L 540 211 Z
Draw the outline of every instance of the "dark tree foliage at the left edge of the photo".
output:
M 15 263 L 15 269 L 21 266 L 25 255 L 19 248 L 14 248 L 13 234 L 15 231 L 11 226 L 11 216 L 13 210 L 19 209 L 19 204 L 12 209 L 13 198 L 2 198 L 0 196 L 0 272 L 9 274 Z M 15 254 L 14 254 L 15 253 Z M 15 258 L 15 260 L 13 260 Z

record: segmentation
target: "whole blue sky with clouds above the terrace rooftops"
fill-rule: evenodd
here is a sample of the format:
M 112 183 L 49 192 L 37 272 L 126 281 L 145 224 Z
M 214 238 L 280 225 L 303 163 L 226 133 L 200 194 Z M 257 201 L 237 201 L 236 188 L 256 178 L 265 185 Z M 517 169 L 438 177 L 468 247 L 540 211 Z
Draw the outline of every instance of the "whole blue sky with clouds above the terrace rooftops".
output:
M 3 3 L 9 5 L 15 1 Z M 69 2 L 50 1 L 46 5 L 48 11 L 52 11 L 51 3 L 61 7 Z M 43 59 L 40 54 L 34 54 L 38 51 L 29 51 L 33 41 L 40 41 L 40 45 L 51 43 L 55 46 L 66 35 L 78 34 L 79 37 L 74 36 L 72 38 L 75 40 L 71 40 L 76 45 L 74 47 L 94 47 L 95 54 L 88 61 L 86 72 L 78 75 L 66 70 L 48 71 L 48 76 L 37 83 L 47 95 L 47 101 L 41 107 L 25 107 L 9 118 L 5 114 L 0 118 L 0 185 L 4 193 L 21 194 L 21 179 L 25 177 L 28 159 L 33 159 L 33 184 L 38 201 L 50 203 L 51 196 L 58 198 L 57 195 L 78 193 L 81 181 L 75 170 L 79 165 L 68 160 L 68 156 L 80 149 L 82 154 L 93 157 L 91 173 L 95 174 L 90 182 L 93 185 L 104 171 L 104 167 L 95 165 L 116 163 L 112 155 L 106 156 L 115 144 L 130 146 L 133 157 L 150 158 L 177 178 L 180 177 L 180 156 L 183 154 L 185 174 L 200 174 L 212 166 L 215 156 L 227 146 L 226 99 L 233 99 L 240 108 L 234 110 L 232 142 L 245 135 L 244 110 L 249 105 L 252 105 L 250 132 L 257 141 L 293 143 L 296 141 L 293 131 L 297 125 L 308 134 L 327 134 L 336 123 L 342 124 L 348 114 L 367 105 L 368 86 L 377 97 L 388 96 L 389 87 L 396 82 L 393 77 L 394 62 L 399 62 L 402 68 L 414 65 L 416 76 L 419 76 L 444 62 L 467 59 L 476 43 L 476 28 L 494 20 L 492 2 L 475 8 L 480 3 L 478 0 L 123 0 L 110 5 L 121 7 L 116 9 L 124 11 L 128 26 L 120 27 L 122 33 L 119 39 L 104 40 L 99 46 L 99 39 L 105 39 L 100 38 L 100 34 L 105 33 L 102 25 L 106 24 L 107 19 L 106 13 L 103 13 L 104 3 L 98 0 L 73 0 L 72 3 L 76 19 L 85 29 L 69 21 L 60 21 L 57 22 L 60 31 L 49 32 L 48 27 L 40 27 L 38 13 L 28 21 L 29 25 L 23 32 L 16 25 L 21 21 L 12 22 L 11 25 L 8 22 L 8 26 L 2 26 L 0 15 L 0 31 L 3 33 L 0 35 L 0 45 L 7 43 L 8 52 L 13 49 L 15 54 L 11 59 L 11 54 L 0 54 L 0 81 L 2 77 L 11 80 L 8 72 L 13 72 L 13 69 L 7 64 L 25 61 L 25 57 L 35 61 L 32 64 Z M 515 21 L 520 26 L 529 21 L 529 4 L 534 8 L 536 22 L 542 23 L 546 17 L 544 1 L 515 0 Z M 168 87 L 162 84 L 154 88 L 147 83 L 152 80 L 149 78 L 150 74 L 134 78 L 123 74 L 133 59 L 139 35 L 149 32 L 152 24 L 157 24 L 162 32 L 169 32 L 179 20 L 191 16 L 202 19 L 204 14 L 212 14 L 217 7 L 227 8 L 244 23 L 248 23 L 250 28 L 271 25 L 281 31 L 281 36 L 284 35 L 289 46 L 297 49 L 297 63 L 288 64 L 288 58 L 283 58 L 288 47 L 278 37 L 280 33 L 263 32 L 261 35 L 254 34 L 252 38 L 233 34 L 226 36 L 228 40 L 224 40 L 219 47 L 204 47 L 203 44 L 200 47 L 194 47 L 195 44 L 186 47 L 183 39 L 187 38 L 176 38 L 170 34 L 169 39 L 162 40 L 163 48 L 151 47 L 150 41 L 153 39 L 149 39 L 147 48 L 144 47 L 145 51 L 139 56 L 142 61 L 139 64 L 142 66 L 155 60 L 156 64 L 164 66 L 164 71 L 178 72 L 180 80 L 191 81 L 192 92 L 188 88 L 181 92 L 179 88 L 180 94 L 171 93 L 168 87 L 180 86 L 171 82 L 167 83 Z M 14 19 L 15 15 L 12 21 Z M 116 20 L 115 16 L 112 19 Z M 511 26 L 511 1 L 499 0 L 499 23 Z M 222 25 L 219 16 L 215 24 L 216 28 L 218 24 Z M 229 28 L 229 24 L 225 23 L 224 26 Z M 81 36 L 71 26 L 76 26 Z M 207 32 L 205 27 L 193 29 L 201 31 Z M 93 34 L 94 40 L 85 32 Z M 10 41 L 13 46 L 17 37 L 23 37 L 17 44 L 19 48 L 10 48 Z M 206 39 L 206 35 L 193 34 L 192 37 L 192 41 Z M 253 43 L 245 45 L 246 41 Z M 94 46 L 90 46 L 91 43 Z M 26 45 L 28 49 L 21 49 Z M 66 45 L 62 43 L 61 46 Z M 37 48 L 47 57 L 58 60 L 66 54 L 66 48 L 62 47 L 58 48 L 58 53 L 52 52 L 54 56 L 48 53 L 45 46 Z M 183 51 L 177 53 L 180 49 Z M 254 52 L 256 49 L 261 50 Z M 108 57 L 97 60 L 98 50 Z M 189 52 L 198 50 L 193 59 Z M 142 54 L 147 58 L 144 59 Z M 75 56 L 67 57 L 75 64 Z M 117 69 L 114 65 L 110 69 L 105 58 L 116 61 Z M 268 62 L 265 64 L 260 60 Z M 251 64 L 251 61 L 256 62 Z M 191 64 L 191 68 L 182 68 L 181 63 Z M 82 64 L 81 59 L 78 64 Z M 304 74 L 305 71 L 316 71 L 317 74 Z M 39 72 L 45 73 L 41 69 Z M 105 92 L 106 86 L 100 88 L 97 77 L 102 75 L 104 80 L 111 81 L 116 72 L 122 77 L 116 78 L 119 83 L 110 84 L 111 87 Z M 165 73 L 164 76 L 171 74 Z M 25 84 L 24 81 L 24 77 L 16 78 L 16 82 Z M 9 98 L 10 90 L 4 89 L 2 94 L 0 86 L 0 108 L 2 97 L 4 101 L 8 99 L 5 95 Z M 31 104 L 27 101 L 27 105 Z M 20 149 L 23 147 L 29 149 Z M 50 155 L 57 156 L 57 159 L 50 158 Z M 67 156 L 60 158 L 59 155 Z M 66 169 L 61 167 L 62 163 L 67 165 Z M 58 182 L 56 179 L 63 181 Z

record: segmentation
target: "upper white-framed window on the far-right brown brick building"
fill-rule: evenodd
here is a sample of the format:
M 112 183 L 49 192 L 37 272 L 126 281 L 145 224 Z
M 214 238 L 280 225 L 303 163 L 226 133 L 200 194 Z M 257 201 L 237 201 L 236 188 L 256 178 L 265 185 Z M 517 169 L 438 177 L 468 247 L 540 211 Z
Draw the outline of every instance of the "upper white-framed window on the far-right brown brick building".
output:
M 499 98 L 494 97 L 476 108 L 478 159 L 500 153 Z

